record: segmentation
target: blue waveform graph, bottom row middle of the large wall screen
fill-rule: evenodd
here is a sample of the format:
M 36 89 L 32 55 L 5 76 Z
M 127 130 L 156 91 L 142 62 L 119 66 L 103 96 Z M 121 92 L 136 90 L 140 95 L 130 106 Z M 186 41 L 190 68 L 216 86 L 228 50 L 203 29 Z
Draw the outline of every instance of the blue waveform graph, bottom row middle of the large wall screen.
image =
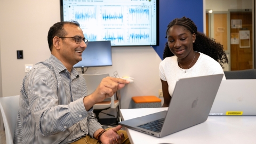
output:
M 123 29 L 106 29 L 102 31 L 103 41 L 111 41 L 111 45 L 124 42 Z

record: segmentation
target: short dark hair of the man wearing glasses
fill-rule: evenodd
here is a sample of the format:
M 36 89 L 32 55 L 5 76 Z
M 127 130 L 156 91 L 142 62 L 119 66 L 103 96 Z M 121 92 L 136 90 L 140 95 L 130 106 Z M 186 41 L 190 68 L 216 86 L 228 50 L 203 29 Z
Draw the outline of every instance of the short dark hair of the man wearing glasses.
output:
M 52 27 L 50 27 L 48 31 L 47 40 L 48 40 L 48 45 L 51 52 L 52 52 L 52 46 L 53 46 L 53 43 L 52 43 L 53 37 L 54 36 L 65 37 L 67 35 L 67 31 L 65 31 L 65 29 L 63 28 L 65 24 L 76 25 L 77 27 L 80 27 L 80 24 L 77 21 L 73 21 L 73 20 L 57 22 Z

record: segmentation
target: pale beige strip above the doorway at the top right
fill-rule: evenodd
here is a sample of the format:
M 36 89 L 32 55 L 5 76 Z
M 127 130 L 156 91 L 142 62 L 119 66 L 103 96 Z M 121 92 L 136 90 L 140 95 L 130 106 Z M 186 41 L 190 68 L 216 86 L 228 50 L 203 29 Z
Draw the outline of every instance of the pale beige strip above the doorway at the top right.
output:
M 213 11 L 252 9 L 252 1 L 253 0 L 205 0 L 205 9 Z

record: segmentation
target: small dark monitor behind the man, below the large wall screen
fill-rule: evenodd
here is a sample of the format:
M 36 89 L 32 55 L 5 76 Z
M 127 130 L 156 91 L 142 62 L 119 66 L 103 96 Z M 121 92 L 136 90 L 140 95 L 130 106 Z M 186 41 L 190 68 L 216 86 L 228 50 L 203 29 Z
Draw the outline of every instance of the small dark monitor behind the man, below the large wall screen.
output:
M 89 42 L 82 53 L 82 61 L 74 65 L 77 67 L 112 66 L 112 52 L 110 41 Z

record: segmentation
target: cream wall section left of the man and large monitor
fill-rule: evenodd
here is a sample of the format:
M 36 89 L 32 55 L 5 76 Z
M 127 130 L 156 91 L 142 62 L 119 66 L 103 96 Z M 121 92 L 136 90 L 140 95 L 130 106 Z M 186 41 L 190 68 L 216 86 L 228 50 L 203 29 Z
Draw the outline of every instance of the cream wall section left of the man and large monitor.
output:
M 19 94 L 25 64 L 49 57 L 47 31 L 60 20 L 59 1 L 0 1 L 3 97 Z M 17 59 L 23 50 L 24 59 Z

